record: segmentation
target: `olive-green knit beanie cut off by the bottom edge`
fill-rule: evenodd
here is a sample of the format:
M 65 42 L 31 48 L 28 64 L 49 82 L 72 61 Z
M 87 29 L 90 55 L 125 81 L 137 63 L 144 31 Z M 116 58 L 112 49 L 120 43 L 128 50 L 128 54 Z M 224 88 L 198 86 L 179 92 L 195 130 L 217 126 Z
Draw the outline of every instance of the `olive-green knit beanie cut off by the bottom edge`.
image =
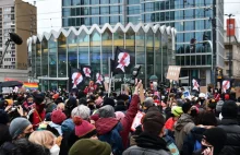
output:
M 75 142 L 69 155 L 110 155 L 111 146 L 99 140 L 82 139 Z

